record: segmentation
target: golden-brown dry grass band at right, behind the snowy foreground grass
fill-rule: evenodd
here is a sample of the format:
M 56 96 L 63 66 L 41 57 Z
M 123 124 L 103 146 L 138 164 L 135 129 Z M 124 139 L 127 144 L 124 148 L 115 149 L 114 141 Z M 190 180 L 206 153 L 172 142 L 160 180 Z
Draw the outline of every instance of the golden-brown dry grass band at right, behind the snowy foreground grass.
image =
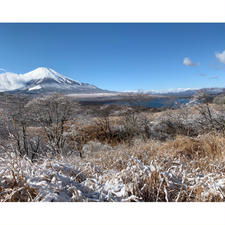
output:
M 174 140 L 168 140 L 167 142 L 137 140 L 133 146 L 118 145 L 115 150 L 101 151 L 85 160 L 94 161 L 105 169 L 116 168 L 119 170 L 126 166 L 126 161 L 130 156 L 136 157 L 145 164 L 165 156 L 171 160 L 181 159 L 184 162 L 195 160 L 207 164 L 208 160 L 220 162 L 225 160 L 224 146 L 225 137 L 215 133 L 196 138 L 177 136 Z

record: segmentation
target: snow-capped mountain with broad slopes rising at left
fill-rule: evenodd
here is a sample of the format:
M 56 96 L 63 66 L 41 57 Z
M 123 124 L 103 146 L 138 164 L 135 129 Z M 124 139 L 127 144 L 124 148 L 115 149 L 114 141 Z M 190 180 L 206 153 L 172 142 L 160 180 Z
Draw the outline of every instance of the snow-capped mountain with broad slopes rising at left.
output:
M 39 67 L 25 74 L 0 74 L 0 92 L 18 94 L 42 93 L 104 93 L 108 92 L 88 83 L 72 80 L 50 68 Z

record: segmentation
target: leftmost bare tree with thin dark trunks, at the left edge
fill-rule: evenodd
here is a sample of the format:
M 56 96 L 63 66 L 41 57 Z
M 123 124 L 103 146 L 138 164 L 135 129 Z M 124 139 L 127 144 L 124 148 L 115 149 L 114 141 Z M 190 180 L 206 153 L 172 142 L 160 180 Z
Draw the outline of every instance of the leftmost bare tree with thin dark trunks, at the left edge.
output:
M 30 130 L 31 118 L 26 101 L 15 101 L 13 108 L 6 102 L 4 112 L 0 116 L 7 131 L 5 147 L 13 150 L 20 157 L 27 156 L 32 161 L 37 158 L 40 150 L 44 150 L 43 138 Z

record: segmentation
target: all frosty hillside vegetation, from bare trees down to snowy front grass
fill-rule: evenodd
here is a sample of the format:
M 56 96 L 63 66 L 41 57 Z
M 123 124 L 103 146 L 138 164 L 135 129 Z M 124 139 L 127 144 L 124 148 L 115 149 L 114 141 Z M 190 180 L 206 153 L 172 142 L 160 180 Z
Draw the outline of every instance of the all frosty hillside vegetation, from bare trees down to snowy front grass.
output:
M 153 110 L 1 100 L 0 201 L 225 201 L 223 100 Z M 12 100 L 12 99 L 11 99 Z

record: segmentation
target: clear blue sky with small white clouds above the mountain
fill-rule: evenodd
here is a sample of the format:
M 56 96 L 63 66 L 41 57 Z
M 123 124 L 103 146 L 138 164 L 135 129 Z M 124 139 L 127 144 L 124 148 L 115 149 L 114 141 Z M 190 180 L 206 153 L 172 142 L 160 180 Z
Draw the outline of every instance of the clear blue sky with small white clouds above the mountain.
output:
M 0 68 L 116 91 L 225 86 L 225 24 L 0 24 Z

